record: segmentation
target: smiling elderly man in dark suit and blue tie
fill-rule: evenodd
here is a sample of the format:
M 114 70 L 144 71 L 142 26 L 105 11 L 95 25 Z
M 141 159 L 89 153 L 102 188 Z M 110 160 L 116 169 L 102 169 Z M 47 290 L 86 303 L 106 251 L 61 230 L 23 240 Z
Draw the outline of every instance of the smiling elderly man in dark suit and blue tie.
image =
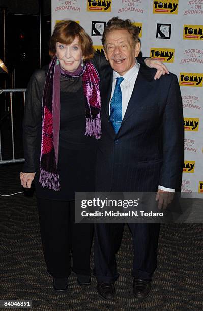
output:
M 182 178 L 183 112 L 177 77 L 170 73 L 155 81 L 155 71 L 136 62 L 138 29 L 129 20 L 109 20 L 102 43 L 111 68 L 101 75 L 96 191 L 156 192 L 159 208 L 166 207 Z M 133 293 L 143 299 L 157 266 L 159 224 L 128 225 L 134 246 Z M 94 275 L 105 300 L 115 295 L 115 254 L 123 229 L 124 223 L 95 224 Z

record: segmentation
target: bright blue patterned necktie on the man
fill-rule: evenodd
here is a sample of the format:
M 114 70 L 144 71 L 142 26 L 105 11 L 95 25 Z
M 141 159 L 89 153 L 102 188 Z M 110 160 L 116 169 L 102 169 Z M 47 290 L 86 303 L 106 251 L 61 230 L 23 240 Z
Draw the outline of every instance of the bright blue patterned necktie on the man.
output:
M 124 78 L 122 77 L 117 78 L 113 97 L 110 102 L 110 121 L 115 130 L 115 133 L 119 132 L 122 122 L 122 92 L 120 84 L 123 80 Z

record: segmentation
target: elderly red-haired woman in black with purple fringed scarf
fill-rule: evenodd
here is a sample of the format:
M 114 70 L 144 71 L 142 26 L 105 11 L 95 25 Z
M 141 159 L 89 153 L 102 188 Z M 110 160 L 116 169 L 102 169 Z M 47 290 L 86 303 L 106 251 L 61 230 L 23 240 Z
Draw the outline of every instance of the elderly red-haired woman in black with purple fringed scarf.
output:
M 70 20 L 55 26 L 49 53 L 51 63 L 33 74 L 26 91 L 20 179 L 25 188 L 35 181 L 47 271 L 62 293 L 71 270 L 81 286 L 91 281 L 93 224 L 75 223 L 74 200 L 75 192 L 94 191 L 101 135 L 98 72 L 108 64 L 94 56 L 91 38 Z

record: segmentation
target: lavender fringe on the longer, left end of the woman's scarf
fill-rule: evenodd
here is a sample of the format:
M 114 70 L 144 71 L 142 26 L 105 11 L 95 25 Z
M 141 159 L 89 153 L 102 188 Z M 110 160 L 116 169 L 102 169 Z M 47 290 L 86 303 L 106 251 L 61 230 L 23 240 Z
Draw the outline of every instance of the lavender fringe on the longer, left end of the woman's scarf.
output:
M 40 169 L 40 180 L 42 187 L 60 191 L 59 175 Z

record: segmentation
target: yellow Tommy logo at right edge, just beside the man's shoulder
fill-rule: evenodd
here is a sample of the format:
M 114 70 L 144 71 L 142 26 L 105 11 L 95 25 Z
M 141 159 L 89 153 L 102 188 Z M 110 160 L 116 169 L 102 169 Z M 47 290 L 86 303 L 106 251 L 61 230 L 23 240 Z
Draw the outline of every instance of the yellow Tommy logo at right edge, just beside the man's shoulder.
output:
M 202 80 L 203 80 L 203 74 L 181 72 L 180 78 L 179 78 L 179 85 L 201 87 Z

